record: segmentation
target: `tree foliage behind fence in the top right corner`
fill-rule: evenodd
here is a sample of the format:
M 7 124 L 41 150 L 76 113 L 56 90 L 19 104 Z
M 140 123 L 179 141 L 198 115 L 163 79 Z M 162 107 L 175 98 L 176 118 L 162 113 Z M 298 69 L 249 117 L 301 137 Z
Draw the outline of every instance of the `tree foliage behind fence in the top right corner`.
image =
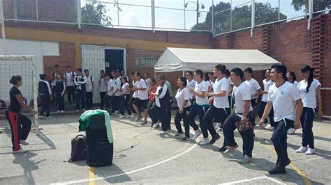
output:
M 304 13 L 309 12 L 308 0 L 292 0 L 292 5 L 296 11 L 304 10 Z M 313 11 L 325 10 L 331 8 L 331 0 L 314 0 Z

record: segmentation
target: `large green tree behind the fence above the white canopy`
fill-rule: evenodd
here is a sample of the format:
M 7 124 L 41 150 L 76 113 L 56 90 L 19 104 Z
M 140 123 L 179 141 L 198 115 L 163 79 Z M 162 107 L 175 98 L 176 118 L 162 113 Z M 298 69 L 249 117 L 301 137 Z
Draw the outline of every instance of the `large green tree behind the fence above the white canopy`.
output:
M 215 33 L 225 33 L 251 26 L 251 6 L 233 8 L 232 19 L 230 19 L 230 10 L 228 10 L 230 7 L 230 3 L 223 2 L 220 2 L 214 6 Z M 270 3 L 256 3 L 255 9 L 256 25 L 284 20 L 287 18 L 286 15 L 279 13 L 279 8 L 272 8 Z M 209 8 L 209 12 L 212 12 L 212 7 Z M 191 29 L 212 30 L 212 13 L 207 13 L 205 22 L 196 24 Z

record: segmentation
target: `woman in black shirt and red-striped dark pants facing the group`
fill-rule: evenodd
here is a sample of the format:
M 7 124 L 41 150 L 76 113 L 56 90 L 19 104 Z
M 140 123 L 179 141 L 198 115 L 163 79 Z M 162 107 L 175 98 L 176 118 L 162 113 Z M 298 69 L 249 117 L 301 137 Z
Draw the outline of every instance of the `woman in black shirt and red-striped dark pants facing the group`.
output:
M 10 88 L 10 104 L 8 111 L 6 111 L 6 118 L 10 124 L 11 141 L 13 143 L 13 154 L 20 154 L 26 152 L 22 150 L 20 144 L 29 145 L 25 140 L 29 136 L 31 129 L 31 120 L 20 113 L 23 107 L 27 111 L 37 114 L 37 111 L 24 104 L 22 93 L 18 88 L 22 86 L 22 77 L 20 75 L 11 77 L 10 81 L 13 87 Z M 21 127 L 22 125 L 22 127 Z

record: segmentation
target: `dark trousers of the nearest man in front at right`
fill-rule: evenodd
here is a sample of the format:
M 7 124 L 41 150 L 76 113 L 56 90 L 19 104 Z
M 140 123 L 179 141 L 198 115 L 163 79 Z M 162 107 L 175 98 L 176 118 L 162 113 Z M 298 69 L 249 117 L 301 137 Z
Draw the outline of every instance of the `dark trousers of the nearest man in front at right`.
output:
M 274 122 L 275 129 L 272 134 L 271 141 L 274 144 L 274 150 L 277 153 L 277 161 L 279 161 L 279 167 L 285 167 L 281 164 L 286 163 L 288 161 L 287 154 L 287 131 L 291 127 L 293 127 L 293 120 L 283 119 L 279 122 Z

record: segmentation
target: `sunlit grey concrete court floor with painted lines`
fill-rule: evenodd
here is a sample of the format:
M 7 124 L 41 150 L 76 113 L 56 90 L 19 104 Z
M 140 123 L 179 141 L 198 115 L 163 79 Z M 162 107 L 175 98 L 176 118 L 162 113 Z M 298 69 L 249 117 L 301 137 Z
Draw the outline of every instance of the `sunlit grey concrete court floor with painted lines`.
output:
M 85 161 L 66 162 L 71 154 L 71 138 L 78 135 L 78 115 L 61 115 L 41 120 L 36 136 L 30 133 L 26 154 L 11 154 L 10 128 L 5 120 L 0 127 L 0 184 L 331 184 L 331 123 L 314 122 L 317 154 L 296 154 L 302 132 L 288 136 L 292 161 L 286 175 L 268 175 L 277 159 L 270 137 L 272 132 L 256 128 L 251 164 L 237 163 L 242 158 L 242 139 L 233 154 L 214 145 L 199 146 L 182 142 L 172 131 L 160 136 L 160 129 L 141 127 L 126 118 L 111 118 L 115 138 L 112 166 L 89 168 Z M 201 139 L 202 136 L 200 136 Z M 131 147 L 133 145 L 133 147 Z

